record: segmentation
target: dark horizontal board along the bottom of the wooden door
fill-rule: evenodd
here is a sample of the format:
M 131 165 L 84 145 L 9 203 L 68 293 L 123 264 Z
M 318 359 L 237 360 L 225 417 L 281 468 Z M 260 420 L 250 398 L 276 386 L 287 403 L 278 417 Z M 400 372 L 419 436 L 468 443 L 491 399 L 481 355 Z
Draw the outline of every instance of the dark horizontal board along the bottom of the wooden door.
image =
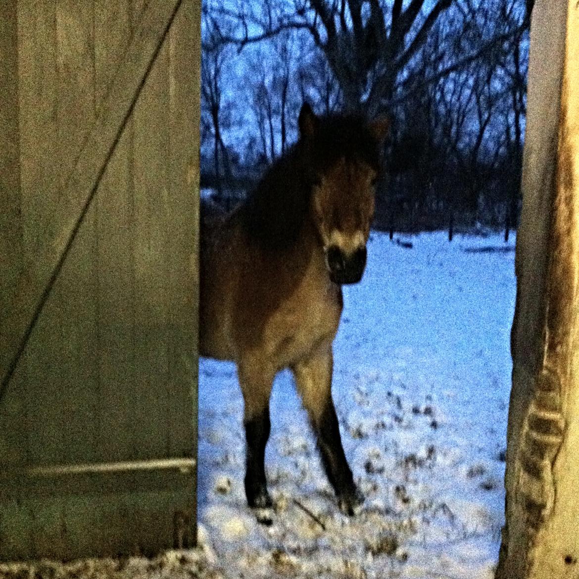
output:
M 35 538 L 31 551 L 24 551 L 16 541 L 6 541 L 0 547 L 0 560 L 153 555 L 173 544 L 175 511 L 188 503 L 192 491 L 190 477 L 181 475 L 169 482 L 164 477 L 157 487 L 154 482 L 145 483 L 111 494 L 102 494 L 95 484 L 92 492 L 68 496 L 64 509 L 55 507 L 53 499 L 28 490 L 0 494 L 4 515 L 0 533 L 19 536 L 22 514 L 28 513 L 34 514 L 27 524 Z

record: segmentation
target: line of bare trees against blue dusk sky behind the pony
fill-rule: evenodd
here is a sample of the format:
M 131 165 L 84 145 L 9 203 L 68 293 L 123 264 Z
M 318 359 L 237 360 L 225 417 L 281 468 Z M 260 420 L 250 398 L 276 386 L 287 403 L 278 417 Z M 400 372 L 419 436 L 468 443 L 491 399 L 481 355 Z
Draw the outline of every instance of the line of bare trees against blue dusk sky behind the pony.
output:
M 318 113 L 386 113 L 380 228 L 516 226 L 532 0 L 203 5 L 202 173 L 239 197 Z

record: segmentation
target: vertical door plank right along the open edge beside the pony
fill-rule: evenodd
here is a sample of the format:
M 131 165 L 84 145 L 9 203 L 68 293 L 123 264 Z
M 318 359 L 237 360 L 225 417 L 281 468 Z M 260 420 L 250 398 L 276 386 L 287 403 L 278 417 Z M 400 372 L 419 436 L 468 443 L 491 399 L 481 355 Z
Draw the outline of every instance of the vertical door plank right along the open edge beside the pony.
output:
M 168 335 L 169 448 L 197 456 L 199 310 L 200 2 L 186 1 L 169 36 Z M 193 479 L 196 485 L 196 475 Z M 197 489 L 188 512 L 196 540 Z

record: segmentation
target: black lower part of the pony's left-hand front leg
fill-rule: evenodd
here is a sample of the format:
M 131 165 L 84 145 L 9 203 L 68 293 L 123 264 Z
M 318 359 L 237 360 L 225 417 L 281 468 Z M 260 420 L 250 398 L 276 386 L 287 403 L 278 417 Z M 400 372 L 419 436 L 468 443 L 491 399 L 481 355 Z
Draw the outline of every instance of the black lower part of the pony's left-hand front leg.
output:
M 271 424 L 269 405 L 250 420 L 245 420 L 245 496 L 250 507 L 270 507 L 265 480 L 265 445 Z

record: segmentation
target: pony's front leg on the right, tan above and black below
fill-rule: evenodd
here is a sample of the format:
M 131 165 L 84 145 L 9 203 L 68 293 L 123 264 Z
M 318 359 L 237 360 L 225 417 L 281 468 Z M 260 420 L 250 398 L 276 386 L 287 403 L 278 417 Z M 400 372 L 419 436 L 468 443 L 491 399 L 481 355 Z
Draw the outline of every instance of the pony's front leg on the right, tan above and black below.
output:
M 316 434 L 324 470 L 336 493 L 340 511 L 354 515 L 364 503 L 364 496 L 354 484 L 340 438 L 338 417 L 332 401 L 332 367 L 332 345 L 329 343 L 295 364 L 292 372 Z

